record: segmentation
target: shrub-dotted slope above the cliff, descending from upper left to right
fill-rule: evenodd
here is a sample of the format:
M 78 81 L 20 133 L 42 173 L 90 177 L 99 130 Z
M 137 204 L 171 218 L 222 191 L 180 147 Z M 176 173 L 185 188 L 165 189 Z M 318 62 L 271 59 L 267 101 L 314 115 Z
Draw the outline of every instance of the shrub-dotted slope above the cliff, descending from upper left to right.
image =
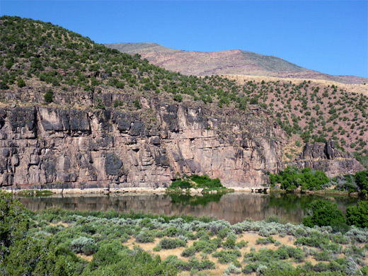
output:
M 145 93 L 160 98 L 172 94 L 172 100 L 177 102 L 183 101 L 185 94 L 185 99 L 202 101 L 214 109 L 234 105 L 240 113 L 248 109 L 248 103 L 258 104 L 277 118 L 287 134 L 299 134 L 304 142 L 324 141 L 335 136 L 345 141 L 352 137 L 355 142 L 354 139 L 364 133 L 362 127 L 367 130 L 367 120 L 364 120 L 368 113 L 367 96 L 336 86 L 316 87 L 313 82 L 289 80 L 240 84 L 222 76 L 184 76 L 155 67 L 139 54 L 130 56 L 112 50 L 51 23 L 2 16 L 0 28 L 4 30 L 0 34 L 3 46 L 0 88 L 3 90 L 16 88 L 18 79 L 28 77 L 32 81 L 27 81 L 27 85 L 35 86 L 31 88 L 39 88 L 40 82 L 52 84 L 55 96 L 62 87 L 67 91 L 82 88 L 91 93 L 112 91 L 138 96 Z M 24 58 L 18 59 L 18 56 Z M 15 65 L 29 69 L 15 71 Z M 134 101 L 135 96 L 127 106 L 140 109 Z M 55 104 L 60 104 L 59 100 Z M 340 120 L 339 113 L 354 115 L 353 122 L 347 115 Z M 337 131 L 337 122 L 346 133 Z M 367 144 L 355 144 L 346 150 L 361 154 L 367 150 Z

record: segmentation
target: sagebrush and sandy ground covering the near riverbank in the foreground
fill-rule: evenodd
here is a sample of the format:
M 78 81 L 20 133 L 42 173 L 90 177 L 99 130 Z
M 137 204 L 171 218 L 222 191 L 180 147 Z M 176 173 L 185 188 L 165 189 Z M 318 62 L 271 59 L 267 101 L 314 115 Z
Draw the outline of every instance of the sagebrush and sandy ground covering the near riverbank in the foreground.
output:
M 347 221 L 359 224 L 354 208 Z M 368 229 L 357 226 L 30 212 L 2 191 L 0 211 L 1 275 L 368 275 Z

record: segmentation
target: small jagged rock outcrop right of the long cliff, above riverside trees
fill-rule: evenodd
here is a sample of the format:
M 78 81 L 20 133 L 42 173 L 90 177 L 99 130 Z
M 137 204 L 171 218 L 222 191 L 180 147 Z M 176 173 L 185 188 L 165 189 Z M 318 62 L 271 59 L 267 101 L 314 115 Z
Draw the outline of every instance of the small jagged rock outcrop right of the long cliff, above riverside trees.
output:
M 337 149 L 334 141 L 307 143 L 295 163 L 298 168 L 311 167 L 324 171 L 328 177 L 364 170 L 362 164 L 352 154 Z

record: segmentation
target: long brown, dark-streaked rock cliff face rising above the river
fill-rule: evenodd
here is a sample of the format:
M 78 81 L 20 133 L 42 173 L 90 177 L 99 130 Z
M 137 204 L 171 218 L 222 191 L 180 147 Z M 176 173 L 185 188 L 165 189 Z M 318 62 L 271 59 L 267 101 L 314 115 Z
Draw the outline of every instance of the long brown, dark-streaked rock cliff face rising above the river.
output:
M 176 175 L 205 173 L 246 187 L 282 168 L 284 132 L 256 107 L 214 116 L 185 103 L 141 104 L 140 113 L 0 109 L 0 186 L 165 187 Z

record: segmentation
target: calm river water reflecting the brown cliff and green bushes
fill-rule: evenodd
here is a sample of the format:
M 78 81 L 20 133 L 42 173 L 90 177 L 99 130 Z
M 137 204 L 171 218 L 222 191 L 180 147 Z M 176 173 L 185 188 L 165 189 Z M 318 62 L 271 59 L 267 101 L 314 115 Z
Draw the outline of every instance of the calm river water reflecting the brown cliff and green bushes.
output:
M 329 197 L 345 212 L 356 199 Z M 25 207 L 42 210 L 61 207 L 70 210 L 118 212 L 150 212 L 152 214 L 192 214 L 225 219 L 231 224 L 244 219 L 263 220 L 279 217 L 287 222 L 301 222 L 312 195 L 263 195 L 234 192 L 226 195 L 125 194 L 125 195 L 52 195 L 50 197 L 19 197 Z

